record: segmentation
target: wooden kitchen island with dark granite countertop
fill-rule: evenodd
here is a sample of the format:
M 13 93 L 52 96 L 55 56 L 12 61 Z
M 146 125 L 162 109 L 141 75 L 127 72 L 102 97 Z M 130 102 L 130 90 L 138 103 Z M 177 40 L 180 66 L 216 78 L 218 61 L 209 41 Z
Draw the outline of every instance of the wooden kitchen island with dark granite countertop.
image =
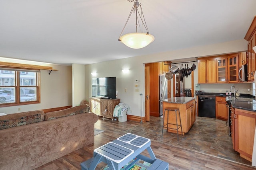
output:
M 166 107 L 178 107 L 180 109 L 180 119 L 182 124 L 182 132 L 188 133 L 196 120 L 196 104 L 194 97 L 173 97 L 163 100 L 163 114 Z M 166 112 L 167 113 L 167 112 Z M 169 112 L 170 113 L 170 112 Z M 175 112 L 174 112 L 175 113 Z M 169 116 L 169 123 L 176 124 L 174 114 Z M 167 123 L 168 117 L 164 117 L 164 124 Z M 177 117 L 179 119 L 179 117 Z M 178 121 L 179 123 L 179 121 Z M 174 127 L 176 128 L 176 127 Z M 166 128 L 165 128 L 166 129 Z M 168 129 L 168 132 L 177 133 L 176 130 Z M 181 134 L 181 129 L 178 129 L 178 133 Z

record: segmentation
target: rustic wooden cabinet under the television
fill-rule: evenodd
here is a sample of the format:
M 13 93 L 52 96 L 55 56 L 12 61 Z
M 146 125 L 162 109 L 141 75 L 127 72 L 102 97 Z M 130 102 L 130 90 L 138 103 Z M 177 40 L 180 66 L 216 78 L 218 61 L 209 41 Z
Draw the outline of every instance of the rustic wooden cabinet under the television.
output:
M 120 99 L 90 98 L 90 111 L 95 113 L 96 115 L 110 117 L 114 120 L 114 108 L 119 103 Z

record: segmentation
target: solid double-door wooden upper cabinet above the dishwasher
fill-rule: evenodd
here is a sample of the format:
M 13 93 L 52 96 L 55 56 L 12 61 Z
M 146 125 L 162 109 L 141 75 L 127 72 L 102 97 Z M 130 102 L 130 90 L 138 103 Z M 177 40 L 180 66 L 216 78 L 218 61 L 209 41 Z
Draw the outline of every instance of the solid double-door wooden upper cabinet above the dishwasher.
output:
M 216 59 L 198 59 L 198 83 L 216 83 Z

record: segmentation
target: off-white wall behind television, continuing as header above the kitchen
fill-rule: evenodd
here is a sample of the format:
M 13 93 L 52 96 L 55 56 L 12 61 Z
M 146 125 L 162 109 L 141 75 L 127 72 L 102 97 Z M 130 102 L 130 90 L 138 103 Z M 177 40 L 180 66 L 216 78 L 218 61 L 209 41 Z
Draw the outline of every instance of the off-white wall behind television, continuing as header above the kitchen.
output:
M 190 49 L 181 49 L 177 51 L 168 51 L 152 55 L 144 55 L 138 57 L 131 57 L 127 59 L 119 59 L 114 61 L 107 61 L 96 64 L 86 65 L 86 99 L 92 96 L 92 75 L 91 72 L 97 72 L 96 77 L 116 76 L 117 78 L 117 97 L 130 106 L 132 113 L 130 115 L 140 116 L 140 93 L 143 94 L 142 98 L 142 116 L 144 116 L 144 64 L 154 63 L 158 61 L 172 61 L 175 59 L 184 59 L 191 57 L 206 57 L 211 55 L 220 55 L 226 53 L 235 53 L 247 50 L 247 41 L 237 40 L 214 45 L 205 45 L 200 47 L 193 47 Z M 150 45 L 145 48 L 150 48 Z M 134 49 L 131 49 L 134 50 Z M 137 49 L 139 50 L 139 49 Z M 123 68 L 130 69 L 128 74 L 122 73 Z M 196 69 L 197 70 L 197 69 Z M 195 75 L 198 73 L 194 72 Z M 196 77 L 196 76 L 195 76 Z M 135 80 L 138 79 L 139 92 L 135 92 Z M 198 80 L 195 80 L 196 84 Z M 127 92 L 124 89 L 127 88 Z

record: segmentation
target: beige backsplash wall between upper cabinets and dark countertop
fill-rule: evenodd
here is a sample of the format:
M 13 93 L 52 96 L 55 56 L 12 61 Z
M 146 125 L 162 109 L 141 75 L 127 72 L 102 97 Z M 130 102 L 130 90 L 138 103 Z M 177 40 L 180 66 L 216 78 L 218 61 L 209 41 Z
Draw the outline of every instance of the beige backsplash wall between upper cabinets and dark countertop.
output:
M 239 84 L 200 84 L 200 90 L 212 93 L 225 93 L 227 90 L 230 92 L 231 86 L 234 85 L 237 93 L 253 95 L 252 83 L 239 83 Z M 234 93 L 234 88 L 231 90 Z

